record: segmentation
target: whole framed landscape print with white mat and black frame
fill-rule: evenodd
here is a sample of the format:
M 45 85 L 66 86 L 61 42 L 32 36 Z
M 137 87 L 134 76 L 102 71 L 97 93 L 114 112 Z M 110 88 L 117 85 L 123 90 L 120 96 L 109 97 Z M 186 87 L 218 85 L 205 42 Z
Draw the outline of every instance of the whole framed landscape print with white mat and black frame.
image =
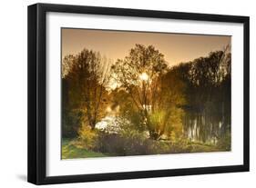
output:
M 28 6 L 28 182 L 249 171 L 249 17 Z

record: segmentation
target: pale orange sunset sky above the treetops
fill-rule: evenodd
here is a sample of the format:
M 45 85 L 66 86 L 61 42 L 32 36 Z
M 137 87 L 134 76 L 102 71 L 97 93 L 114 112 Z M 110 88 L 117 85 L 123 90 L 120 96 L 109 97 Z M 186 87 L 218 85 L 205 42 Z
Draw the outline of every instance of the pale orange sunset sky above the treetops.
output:
M 228 35 L 189 35 L 62 28 L 62 57 L 77 54 L 83 48 L 94 50 L 116 61 L 128 55 L 135 44 L 154 45 L 165 55 L 169 66 L 189 62 L 210 51 L 230 45 Z

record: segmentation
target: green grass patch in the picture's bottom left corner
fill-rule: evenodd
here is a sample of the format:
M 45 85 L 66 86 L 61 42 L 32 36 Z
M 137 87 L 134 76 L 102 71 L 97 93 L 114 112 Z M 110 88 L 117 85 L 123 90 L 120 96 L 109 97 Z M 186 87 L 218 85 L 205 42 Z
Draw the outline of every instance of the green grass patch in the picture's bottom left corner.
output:
M 104 153 L 96 153 L 88 151 L 83 148 L 78 148 L 72 143 L 72 140 L 64 139 L 62 141 L 61 158 L 62 159 L 76 159 L 76 158 L 87 158 L 87 157 L 104 157 L 108 156 Z

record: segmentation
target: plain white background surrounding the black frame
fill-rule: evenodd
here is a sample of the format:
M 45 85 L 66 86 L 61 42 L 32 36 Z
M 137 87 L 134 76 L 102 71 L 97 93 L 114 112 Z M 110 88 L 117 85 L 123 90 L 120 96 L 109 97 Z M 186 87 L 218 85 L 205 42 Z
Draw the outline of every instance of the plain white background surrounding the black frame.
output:
M 73 0 L 7 1 L 0 11 L 0 187 L 33 187 L 26 183 L 26 6 L 37 2 L 156 9 L 251 16 L 251 172 L 179 176 L 48 187 L 242 187 L 256 183 L 256 12 L 252 0 Z M 253 185 L 252 185 L 253 186 Z

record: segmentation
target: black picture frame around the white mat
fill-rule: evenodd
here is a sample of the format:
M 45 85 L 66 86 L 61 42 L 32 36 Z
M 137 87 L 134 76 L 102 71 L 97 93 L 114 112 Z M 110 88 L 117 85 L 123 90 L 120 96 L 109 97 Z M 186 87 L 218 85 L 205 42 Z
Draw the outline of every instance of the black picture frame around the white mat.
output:
M 46 13 L 76 13 L 91 15 L 122 15 L 177 20 L 199 20 L 243 24 L 243 164 L 216 167 L 184 168 L 125 173 L 77 174 L 46 176 Z M 206 15 L 153 10 L 94 7 L 81 5 L 36 4 L 28 6 L 28 158 L 27 181 L 35 184 L 80 183 L 93 181 L 151 178 L 204 173 L 249 171 L 249 25 L 248 16 Z

